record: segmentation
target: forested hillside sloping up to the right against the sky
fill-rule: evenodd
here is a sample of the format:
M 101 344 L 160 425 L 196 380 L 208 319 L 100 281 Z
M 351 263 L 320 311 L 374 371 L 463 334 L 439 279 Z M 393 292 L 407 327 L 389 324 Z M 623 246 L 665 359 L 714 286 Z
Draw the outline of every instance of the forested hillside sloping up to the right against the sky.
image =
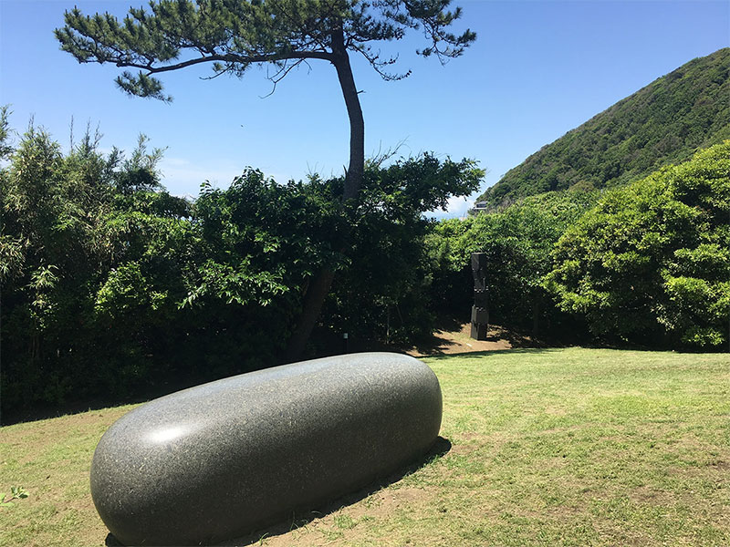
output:
M 477 201 L 615 187 L 730 139 L 730 48 L 696 58 L 543 147 Z

